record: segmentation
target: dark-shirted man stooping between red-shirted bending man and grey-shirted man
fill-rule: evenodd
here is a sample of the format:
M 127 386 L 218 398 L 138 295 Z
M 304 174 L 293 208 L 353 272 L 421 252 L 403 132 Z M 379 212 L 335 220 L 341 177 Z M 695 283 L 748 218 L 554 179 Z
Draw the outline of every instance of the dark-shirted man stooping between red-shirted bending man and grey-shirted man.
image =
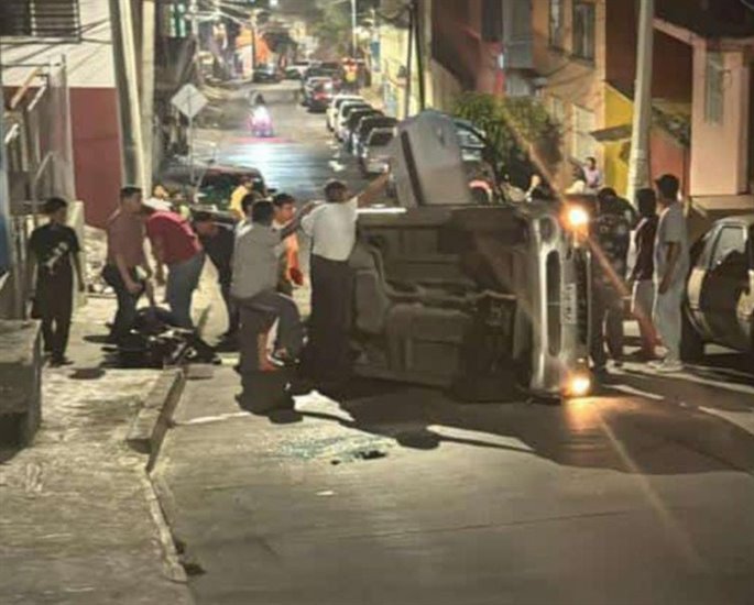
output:
M 230 298 L 230 282 L 232 278 L 233 246 L 236 234 L 233 228 L 216 221 L 210 212 L 199 211 L 194 215 L 194 229 L 199 241 L 217 268 L 217 280 L 220 284 L 222 300 L 228 310 L 227 337 L 238 330 L 238 311 Z

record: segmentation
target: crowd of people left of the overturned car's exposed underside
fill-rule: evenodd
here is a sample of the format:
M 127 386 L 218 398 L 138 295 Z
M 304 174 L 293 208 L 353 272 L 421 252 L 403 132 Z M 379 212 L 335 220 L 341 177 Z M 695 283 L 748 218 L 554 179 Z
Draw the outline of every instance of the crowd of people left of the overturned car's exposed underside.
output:
M 231 195 L 232 220 L 209 209 L 192 211 L 185 204 L 175 204 L 161 186 L 147 199 L 140 188 L 123 187 L 107 223 L 102 277 L 117 298 L 108 340 L 120 344 L 128 339 L 142 297 L 147 298 L 149 308 L 159 308 L 155 286 L 165 288 L 171 324 L 193 332 L 194 293 L 209 257 L 228 315 L 225 337 L 230 341 L 253 339 L 256 371 L 273 372 L 303 358 L 303 370 L 315 382 L 339 381 L 347 375 L 349 356 L 350 307 L 345 293 L 351 287 L 348 257 L 356 242 L 357 208 L 370 204 L 385 183 L 386 176 L 378 178 L 362 194 L 351 195 L 346 184 L 334 180 L 325 186 L 324 202 L 296 210 L 293 196 L 271 196 L 249 177 Z M 42 319 L 45 350 L 55 365 L 69 363 L 65 352 L 74 268 L 79 286 L 85 287 L 79 243 L 65 224 L 66 207 L 62 199 L 48 200 L 44 210 L 50 221 L 31 239 L 39 266 L 34 315 Z M 312 317 L 305 351 L 302 320 L 292 298 L 294 288 L 305 280 L 296 234 L 299 229 L 312 239 Z M 273 323 L 276 338 L 270 348 Z

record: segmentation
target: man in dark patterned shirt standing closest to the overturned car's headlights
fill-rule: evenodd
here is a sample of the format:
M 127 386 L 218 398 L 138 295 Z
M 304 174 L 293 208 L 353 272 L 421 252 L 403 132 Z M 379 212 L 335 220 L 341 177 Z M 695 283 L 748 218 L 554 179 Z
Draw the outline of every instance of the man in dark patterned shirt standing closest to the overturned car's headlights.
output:
M 605 340 L 615 364 L 623 363 L 623 290 L 631 224 L 619 198 L 605 196 L 599 200 L 590 241 L 594 257 L 590 349 L 594 373 L 600 374 L 608 362 Z

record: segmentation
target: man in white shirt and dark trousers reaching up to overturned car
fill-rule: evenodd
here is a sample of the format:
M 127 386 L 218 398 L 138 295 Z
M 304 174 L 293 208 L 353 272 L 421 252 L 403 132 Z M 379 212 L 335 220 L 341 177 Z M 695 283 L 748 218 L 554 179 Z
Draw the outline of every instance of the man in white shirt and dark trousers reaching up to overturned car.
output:
M 305 371 L 318 384 L 348 377 L 348 332 L 352 272 L 348 260 L 356 244 L 358 209 L 372 204 L 384 190 L 389 175 L 378 177 L 357 196 L 345 183 L 325 186 L 325 204 L 302 220 L 312 242 L 312 317 L 304 355 Z

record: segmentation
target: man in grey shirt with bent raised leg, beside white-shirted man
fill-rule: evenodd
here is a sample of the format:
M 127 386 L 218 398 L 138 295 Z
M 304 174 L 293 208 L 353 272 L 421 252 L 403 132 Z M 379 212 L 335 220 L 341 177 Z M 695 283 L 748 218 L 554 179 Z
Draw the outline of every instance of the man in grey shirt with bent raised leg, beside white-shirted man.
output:
M 281 361 L 297 359 L 304 342 L 298 308 L 294 300 L 278 292 L 280 255 L 283 241 L 294 233 L 300 219 L 310 210 L 307 206 L 282 230 L 273 228 L 275 215 L 271 201 L 255 201 L 251 207 L 251 223 L 241 226 L 236 237 L 231 296 L 241 314 L 239 346 L 248 350 L 249 341 L 256 340 L 258 367 L 263 372 L 277 367 L 266 352 L 266 331 L 260 333 L 249 314 L 264 314 L 278 320 L 274 358 Z

